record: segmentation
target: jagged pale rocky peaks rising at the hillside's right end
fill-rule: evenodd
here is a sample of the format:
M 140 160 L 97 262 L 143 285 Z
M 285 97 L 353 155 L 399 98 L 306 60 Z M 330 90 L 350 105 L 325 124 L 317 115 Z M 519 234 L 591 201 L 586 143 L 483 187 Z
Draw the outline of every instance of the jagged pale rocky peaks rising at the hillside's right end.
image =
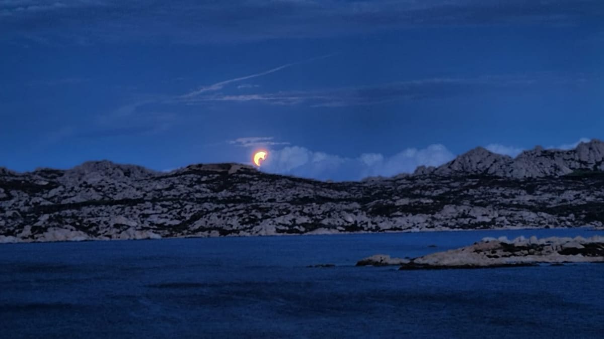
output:
M 478 147 L 432 171 L 422 168 L 415 174 L 439 176 L 480 174 L 533 178 L 564 176 L 578 170 L 604 171 L 604 142 L 594 139 L 568 151 L 544 150 L 542 147 L 536 147 L 522 152 L 515 159 Z

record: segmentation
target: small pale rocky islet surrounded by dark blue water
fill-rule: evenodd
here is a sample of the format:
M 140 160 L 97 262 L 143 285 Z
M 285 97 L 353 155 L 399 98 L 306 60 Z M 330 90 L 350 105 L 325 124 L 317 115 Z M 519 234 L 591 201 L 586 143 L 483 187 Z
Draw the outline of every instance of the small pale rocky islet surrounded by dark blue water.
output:
M 413 259 L 373 255 L 361 259 L 357 266 L 397 265 L 400 270 L 445 268 L 493 268 L 604 262 L 604 236 L 583 238 L 535 236 L 515 239 L 483 238 L 471 246 L 436 252 Z

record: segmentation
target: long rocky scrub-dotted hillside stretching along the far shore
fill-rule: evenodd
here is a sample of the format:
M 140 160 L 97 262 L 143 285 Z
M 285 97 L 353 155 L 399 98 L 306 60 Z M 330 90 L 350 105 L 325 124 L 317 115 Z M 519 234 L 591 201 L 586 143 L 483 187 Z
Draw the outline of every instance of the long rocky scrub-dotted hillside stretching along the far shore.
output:
M 234 163 L 170 173 L 86 162 L 0 168 L 0 242 L 602 226 L 604 143 L 516 159 L 477 148 L 438 168 L 362 182 Z

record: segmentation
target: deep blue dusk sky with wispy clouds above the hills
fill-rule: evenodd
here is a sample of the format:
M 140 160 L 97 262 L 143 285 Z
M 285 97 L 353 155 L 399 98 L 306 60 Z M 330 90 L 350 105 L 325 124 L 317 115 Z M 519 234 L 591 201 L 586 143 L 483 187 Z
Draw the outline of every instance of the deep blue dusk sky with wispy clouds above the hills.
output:
M 600 0 L 0 0 L 0 51 L 18 171 L 265 147 L 344 180 L 604 138 Z

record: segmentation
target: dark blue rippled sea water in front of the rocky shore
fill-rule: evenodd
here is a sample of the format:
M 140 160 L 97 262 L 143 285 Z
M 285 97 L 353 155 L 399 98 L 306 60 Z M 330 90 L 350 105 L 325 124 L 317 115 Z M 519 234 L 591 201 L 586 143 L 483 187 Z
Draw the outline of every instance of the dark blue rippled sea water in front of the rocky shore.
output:
M 485 270 L 354 267 L 484 236 L 391 233 L 0 246 L 5 338 L 596 338 L 604 264 Z M 428 247 L 436 245 L 437 247 Z M 333 268 L 307 268 L 314 264 Z

